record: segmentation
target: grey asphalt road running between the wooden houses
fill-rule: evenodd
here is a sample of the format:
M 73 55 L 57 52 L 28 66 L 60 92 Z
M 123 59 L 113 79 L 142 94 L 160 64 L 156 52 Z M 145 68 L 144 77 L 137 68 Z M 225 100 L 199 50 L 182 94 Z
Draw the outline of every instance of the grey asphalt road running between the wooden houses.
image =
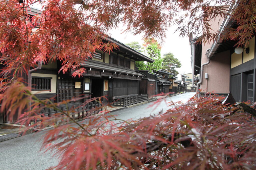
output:
M 184 93 L 173 97 L 161 99 L 152 107 L 152 102 L 136 106 L 129 109 L 115 111 L 112 114 L 122 120 L 139 119 L 159 112 L 165 112 L 171 100 L 176 102 L 182 100 L 186 102 L 195 93 Z M 47 130 L 25 135 L 22 137 L 0 142 L 0 170 L 39 170 L 57 165 L 58 159 L 52 153 L 40 151 L 41 138 L 47 133 Z

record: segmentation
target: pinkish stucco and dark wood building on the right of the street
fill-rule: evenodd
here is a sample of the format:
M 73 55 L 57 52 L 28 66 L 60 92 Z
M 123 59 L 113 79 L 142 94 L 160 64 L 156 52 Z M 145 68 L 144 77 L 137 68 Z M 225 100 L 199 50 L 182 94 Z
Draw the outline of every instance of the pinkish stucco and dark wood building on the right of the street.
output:
M 232 9 L 230 6 L 229 9 Z M 219 23 L 222 23 L 221 25 Z M 236 102 L 255 101 L 255 36 L 249 44 L 237 52 L 237 41 L 221 38 L 225 29 L 236 28 L 237 23 L 226 18 L 210 21 L 213 31 L 219 36 L 210 43 L 195 43 L 192 50 L 194 75 L 200 74 L 198 89 L 200 94 L 217 93 L 227 95 L 229 91 Z M 194 39 L 196 41 L 196 38 Z M 193 43 L 192 43 L 193 45 Z M 193 49 L 193 47 L 191 48 Z M 200 70 L 198 69 L 200 68 Z

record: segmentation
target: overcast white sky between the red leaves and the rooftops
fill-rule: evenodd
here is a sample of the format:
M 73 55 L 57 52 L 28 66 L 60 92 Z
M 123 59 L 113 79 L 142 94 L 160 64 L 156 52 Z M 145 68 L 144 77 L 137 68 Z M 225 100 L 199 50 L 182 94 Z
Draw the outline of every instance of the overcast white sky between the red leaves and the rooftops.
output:
M 161 55 L 165 53 L 173 53 L 175 58 L 178 58 L 181 62 L 181 68 L 176 70 L 181 74 L 191 73 L 191 61 L 190 61 L 190 45 L 189 39 L 187 37 L 181 38 L 179 34 L 175 31 L 175 27 L 170 28 L 166 32 L 165 42 L 162 43 Z M 143 44 L 142 35 L 134 36 L 133 33 L 122 33 L 122 28 L 110 31 L 110 36 L 116 40 L 126 44 L 132 41 L 137 41 L 140 45 Z

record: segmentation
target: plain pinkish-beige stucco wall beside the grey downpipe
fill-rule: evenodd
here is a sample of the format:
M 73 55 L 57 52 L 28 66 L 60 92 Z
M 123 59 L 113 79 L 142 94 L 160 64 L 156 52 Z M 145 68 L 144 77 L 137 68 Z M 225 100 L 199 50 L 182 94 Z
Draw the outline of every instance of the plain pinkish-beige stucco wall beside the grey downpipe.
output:
M 206 55 L 202 56 L 202 63 L 205 62 Z M 208 73 L 207 92 L 229 93 L 230 50 L 215 54 L 203 70 L 202 92 L 206 92 L 205 73 Z

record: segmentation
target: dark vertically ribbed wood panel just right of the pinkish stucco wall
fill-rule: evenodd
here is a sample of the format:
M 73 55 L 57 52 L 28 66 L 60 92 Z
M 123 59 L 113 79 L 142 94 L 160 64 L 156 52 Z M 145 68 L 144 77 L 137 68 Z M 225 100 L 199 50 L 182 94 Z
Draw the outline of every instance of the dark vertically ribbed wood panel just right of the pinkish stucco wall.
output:
M 230 91 L 236 102 L 239 102 L 241 99 L 241 74 L 232 75 L 230 77 Z

